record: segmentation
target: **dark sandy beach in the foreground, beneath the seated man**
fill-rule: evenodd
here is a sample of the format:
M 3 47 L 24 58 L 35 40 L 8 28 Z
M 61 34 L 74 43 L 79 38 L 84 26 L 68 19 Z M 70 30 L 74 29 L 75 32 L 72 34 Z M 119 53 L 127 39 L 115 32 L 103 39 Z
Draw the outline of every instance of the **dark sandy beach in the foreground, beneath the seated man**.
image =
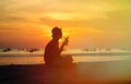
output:
M 72 67 L 0 65 L 0 84 L 131 84 L 131 62 L 74 62 Z

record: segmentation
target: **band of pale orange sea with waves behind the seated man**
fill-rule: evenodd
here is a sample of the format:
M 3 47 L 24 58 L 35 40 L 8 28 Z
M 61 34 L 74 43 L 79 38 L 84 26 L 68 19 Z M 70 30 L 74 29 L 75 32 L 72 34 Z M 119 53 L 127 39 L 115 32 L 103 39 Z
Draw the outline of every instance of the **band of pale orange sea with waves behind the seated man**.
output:
M 131 60 L 130 50 L 85 50 L 68 49 L 61 56 L 72 56 L 73 62 L 98 62 L 115 60 Z M 0 49 L 0 65 L 7 64 L 39 64 L 44 62 L 44 49 L 27 51 L 26 49 Z

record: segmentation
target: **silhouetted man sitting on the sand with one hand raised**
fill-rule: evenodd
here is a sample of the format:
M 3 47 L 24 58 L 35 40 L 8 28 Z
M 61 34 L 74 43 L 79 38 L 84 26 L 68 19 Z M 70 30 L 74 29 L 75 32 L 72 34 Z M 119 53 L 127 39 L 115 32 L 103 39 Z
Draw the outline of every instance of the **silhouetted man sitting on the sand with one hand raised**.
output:
M 61 47 L 59 48 L 59 39 L 62 37 L 61 28 L 53 27 L 52 31 L 52 39 L 47 44 L 45 48 L 44 60 L 47 65 L 64 65 L 72 63 L 72 57 L 67 56 L 62 57 L 60 53 L 63 50 L 63 47 L 68 45 L 68 38 L 63 41 Z

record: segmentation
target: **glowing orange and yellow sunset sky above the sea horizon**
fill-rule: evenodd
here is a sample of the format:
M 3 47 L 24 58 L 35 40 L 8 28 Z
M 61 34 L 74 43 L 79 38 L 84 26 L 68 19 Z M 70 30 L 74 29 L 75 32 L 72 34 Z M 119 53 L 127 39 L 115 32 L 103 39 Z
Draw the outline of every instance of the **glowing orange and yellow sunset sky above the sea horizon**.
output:
M 0 11 L 1 48 L 44 48 L 53 26 L 69 48 L 131 46 L 129 0 L 2 0 Z

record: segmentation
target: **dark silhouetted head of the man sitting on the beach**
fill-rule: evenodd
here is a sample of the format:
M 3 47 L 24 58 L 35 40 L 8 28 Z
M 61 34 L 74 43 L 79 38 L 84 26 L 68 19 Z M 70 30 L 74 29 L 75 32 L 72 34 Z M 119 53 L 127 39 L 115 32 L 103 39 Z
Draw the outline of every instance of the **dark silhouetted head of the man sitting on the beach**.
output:
M 52 38 L 59 39 L 62 37 L 62 32 L 61 28 L 59 27 L 53 27 L 51 33 L 52 33 Z

